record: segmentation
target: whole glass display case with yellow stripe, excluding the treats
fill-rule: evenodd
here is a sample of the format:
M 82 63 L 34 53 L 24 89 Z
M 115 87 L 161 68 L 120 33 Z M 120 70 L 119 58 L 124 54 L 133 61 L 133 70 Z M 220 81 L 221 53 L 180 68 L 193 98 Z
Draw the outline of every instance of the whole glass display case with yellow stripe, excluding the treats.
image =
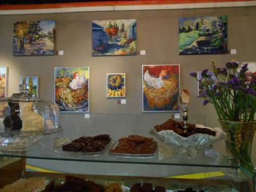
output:
M 166 191 L 183 191 L 181 189 L 189 187 L 196 191 L 255 191 L 254 176 L 229 162 L 223 152 L 218 152 L 211 145 L 200 148 L 193 155 L 181 154 L 150 134 L 153 126 L 169 118 L 170 114 L 63 114 L 62 130 L 51 134 L 51 137 L 42 135 L 33 149 L 0 151 L 0 157 L 18 158 L 20 163 L 20 166 L 13 167 L 5 163 L 1 167 L 0 180 L 6 181 L 4 178 L 8 174 L 12 178 L 10 169 L 13 169 L 13 173 L 20 173 L 22 178 L 44 176 L 59 184 L 65 182 L 67 175 L 102 185 L 120 182 L 126 187 L 123 191 L 130 191 L 135 183 L 152 183 L 153 188 L 163 186 Z M 205 116 L 197 115 L 190 115 L 188 122 L 206 124 Z M 112 138 L 111 144 L 100 155 L 72 156 L 57 151 L 72 139 L 99 134 L 109 134 Z M 156 156 L 125 158 L 112 155 L 113 143 L 128 135 L 153 137 L 157 142 Z M 36 169 L 35 172 L 31 167 L 44 170 Z M 5 184 L 9 183 L 6 181 Z

